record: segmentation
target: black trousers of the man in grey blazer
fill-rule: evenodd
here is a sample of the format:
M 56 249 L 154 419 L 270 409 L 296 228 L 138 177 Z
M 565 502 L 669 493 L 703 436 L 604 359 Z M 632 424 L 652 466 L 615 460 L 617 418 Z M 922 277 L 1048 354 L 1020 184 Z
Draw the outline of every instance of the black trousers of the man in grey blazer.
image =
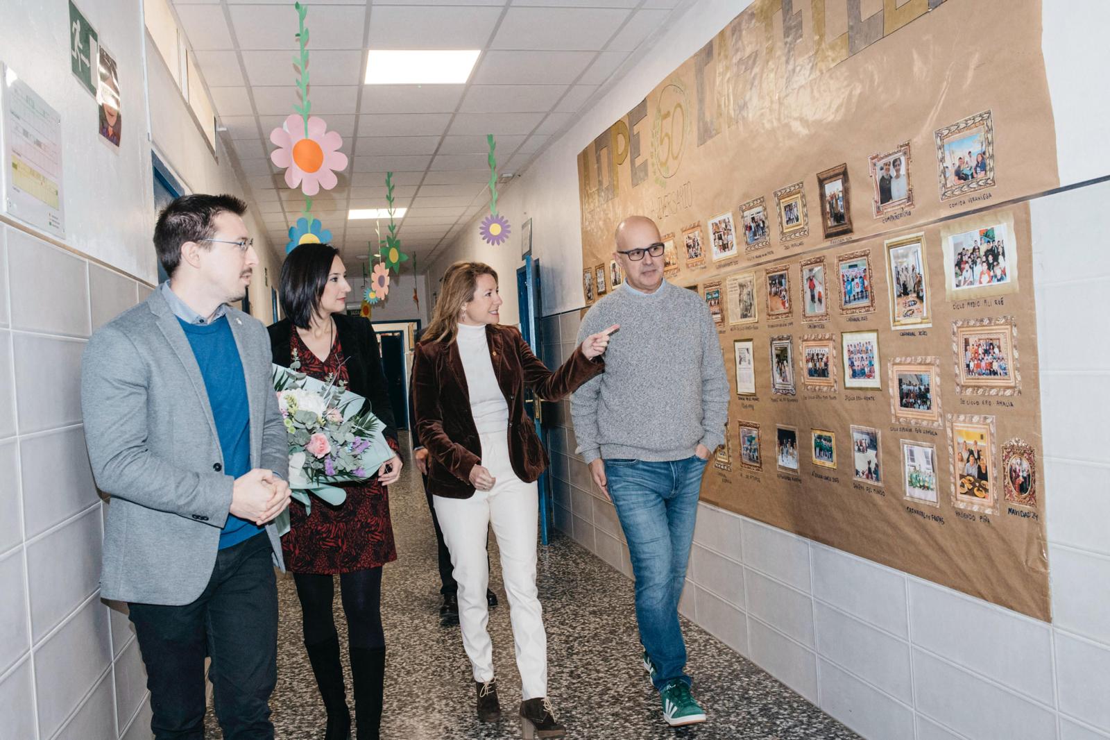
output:
M 203 593 L 183 607 L 131 603 L 147 664 L 155 740 L 204 737 L 204 658 L 226 740 L 272 740 L 278 681 L 278 586 L 270 538 L 220 550 Z

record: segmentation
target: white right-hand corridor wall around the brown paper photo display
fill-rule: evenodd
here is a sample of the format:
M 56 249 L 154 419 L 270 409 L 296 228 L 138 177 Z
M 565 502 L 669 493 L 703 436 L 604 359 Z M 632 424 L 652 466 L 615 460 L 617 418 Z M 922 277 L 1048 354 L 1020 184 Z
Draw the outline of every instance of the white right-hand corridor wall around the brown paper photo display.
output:
M 575 158 L 746 4 L 694 3 L 500 193 L 513 223 L 534 219 L 548 364 L 573 350 L 584 302 Z M 1090 182 L 1110 174 L 1110 97 L 1084 82 L 1107 62 L 1097 29 L 1108 22 L 1110 8 L 1098 0 L 1043 2 L 1056 164 L 1061 187 L 1078 186 L 1028 204 L 1037 292 L 1023 299 L 1038 310 L 1051 622 L 700 506 L 683 613 L 866 738 L 1110 738 L 1110 540 L 1101 527 L 1110 516 L 1101 449 L 1110 409 L 1099 390 L 1110 356 L 1092 341 L 1110 260 L 1090 218 L 1110 197 L 1110 184 Z M 430 273 L 462 258 L 503 272 L 518 263 L 512 249 L 484 247 L 474 223 Z M 613 507 L 574 454 L 568 406 L 549 410 L 556 527 L 630 577 Z

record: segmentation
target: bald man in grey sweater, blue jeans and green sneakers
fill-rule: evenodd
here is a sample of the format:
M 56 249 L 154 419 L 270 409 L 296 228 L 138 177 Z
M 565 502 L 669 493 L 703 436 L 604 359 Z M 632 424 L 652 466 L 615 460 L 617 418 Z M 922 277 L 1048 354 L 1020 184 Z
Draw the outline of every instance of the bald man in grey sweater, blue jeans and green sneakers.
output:
M 728 380 L 700 296 L 663 279 L 659 229 L 632 216 L 616 231 L 624 284 L 582 321 L 578 341 L 619 324 L 605 372 L 571 401 L 578 452 L 616 507 L 636 577 L 644 668 L 672 727 L 705 721 L 684 672 L 678 598 L 705 464 L 725 443 Z

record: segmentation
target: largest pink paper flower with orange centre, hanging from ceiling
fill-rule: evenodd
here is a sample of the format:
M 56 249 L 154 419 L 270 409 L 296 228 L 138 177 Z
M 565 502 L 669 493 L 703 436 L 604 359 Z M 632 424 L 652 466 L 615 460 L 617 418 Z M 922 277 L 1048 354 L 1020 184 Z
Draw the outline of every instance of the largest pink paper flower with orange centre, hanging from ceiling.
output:
M 292 114 L 270 132 L 270 141 L 279 147 L 270 152 L 270 160 L 286 168 L 285 184 L 300 186 L 305 196 L 315 196 L 321 188 L 331 190 L 339 183 L 335 172 L 346 169 L 346 154 L 339 151 L 343 138 L 339 131 L 329 131 L 322 118 L 310 116 L 306 126 L 301 116 Z

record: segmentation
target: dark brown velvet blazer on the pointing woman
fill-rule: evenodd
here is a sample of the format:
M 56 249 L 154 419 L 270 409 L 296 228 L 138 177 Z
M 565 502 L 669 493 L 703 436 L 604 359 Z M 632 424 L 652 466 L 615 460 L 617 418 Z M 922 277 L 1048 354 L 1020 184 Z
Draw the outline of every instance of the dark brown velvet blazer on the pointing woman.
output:
M 605 370 L 601 358 L 586 359 L 578 347 L 554 372 L 541 362 L 511 327 L 488 324 L 486 340 L 493 371 L 508 403 L 508 456 L 513 471 L 531 483 L 547 468 L 547 453 L 524 412 L 527 386 L 545 401 L 557 401 Z M 458 344 L 425 341 L 413 357 L 416 438 L 428 450 L 427 488 L 435 496 L 474 496 L 471 470 L 481 462 L 482 442 L 471 413 L 466 372 Z

